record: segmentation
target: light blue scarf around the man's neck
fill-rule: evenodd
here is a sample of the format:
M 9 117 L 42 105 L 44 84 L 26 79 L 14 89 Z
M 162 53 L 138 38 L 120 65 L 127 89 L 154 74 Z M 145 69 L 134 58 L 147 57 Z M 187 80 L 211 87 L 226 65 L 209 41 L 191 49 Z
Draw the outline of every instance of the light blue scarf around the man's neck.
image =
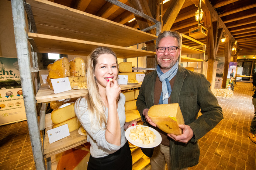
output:
M 163 73 L 160 69 L 160 66 L 156 66 L 156 72 L 158 74 L 160 82 L 162 82 L 162 93 L 159 100 L 160 104 L 168 104 L 168 98 L 170 97 L 172 93 L 172 87 L 170 85 L 170 80 L 177 74 L 179 61 L 177 61 L 172 68 L 167 71 L 166 73 Z

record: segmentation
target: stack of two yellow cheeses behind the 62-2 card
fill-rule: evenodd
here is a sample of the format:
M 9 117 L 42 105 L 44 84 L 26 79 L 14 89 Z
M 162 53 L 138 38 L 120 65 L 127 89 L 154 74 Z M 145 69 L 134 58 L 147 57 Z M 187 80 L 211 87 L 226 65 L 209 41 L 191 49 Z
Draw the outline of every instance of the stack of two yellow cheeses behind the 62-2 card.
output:
M 74 102 L 66 103 L 54 109 L 51 113 L 52 128 L 68 124 L 69 132 L 79 129 L 81 124 L 76 117 Z

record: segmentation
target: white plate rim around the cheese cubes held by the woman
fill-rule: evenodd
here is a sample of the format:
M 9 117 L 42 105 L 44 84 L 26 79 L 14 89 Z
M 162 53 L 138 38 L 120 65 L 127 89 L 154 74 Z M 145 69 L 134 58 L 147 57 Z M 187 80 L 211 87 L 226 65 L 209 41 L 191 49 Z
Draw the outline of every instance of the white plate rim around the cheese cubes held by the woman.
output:
M 136 125 L 136 126 L 138 126 L 138 125 Z M 131 127 L 129 127 L 126 131 L 125 131 L 125 137 L 127 138 L 127 140 L 129 141 L 129 142 L 131 142 L 131 144 L 134 144 L 135 146 L 138 146 L 138 147 L 140 147 L 140 148 L 154 148 L 154 147 L 157 147 L 158 145 L 160 145 L 160 143 L 162 142 L 162 137 L 161 137 L 161 135 L 158 133 L 158 131 L 156 131 L 155 129 L 153 129 L 153 128 L 151 128 L 151 127 L 149 127 L 149 130 L 151 130 L 151 131 L 153 131 L 153 133 L 156 135 L 156 139 L 155 139 L 155 141 L 153 142 L 153 144 L 147 144 L 147 145 L 145 145 L 145 144 L 141 144 L 141 143 L 139 143 L 139 142 L 137 142 L 137 141 L 134 141 L 134 140 L 131 140 L 131 138 L 130 138 L 130 131 L 131 131 L 131 129 L 134 129 L 134 128 L 136 128 L 136 126 L 131 126 Z M 143 125 L 141 125 L 142 127 L 148 127 L 148 126 L 143 126 Z

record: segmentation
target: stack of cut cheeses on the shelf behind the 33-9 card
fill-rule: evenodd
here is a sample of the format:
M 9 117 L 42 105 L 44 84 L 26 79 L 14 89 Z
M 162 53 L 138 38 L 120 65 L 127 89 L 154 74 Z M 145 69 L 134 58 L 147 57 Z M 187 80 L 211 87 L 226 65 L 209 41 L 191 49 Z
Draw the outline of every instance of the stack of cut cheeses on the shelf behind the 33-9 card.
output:
M 51 79 L 68 77 L 71 88 L 86 83 L 86 66 L 83 58 L 80 57 L 70 61 L 66 57 L 57 59 L 53 64 L 48 65 L 48 71 L 47 82 L 51 90 L 53 90 Z

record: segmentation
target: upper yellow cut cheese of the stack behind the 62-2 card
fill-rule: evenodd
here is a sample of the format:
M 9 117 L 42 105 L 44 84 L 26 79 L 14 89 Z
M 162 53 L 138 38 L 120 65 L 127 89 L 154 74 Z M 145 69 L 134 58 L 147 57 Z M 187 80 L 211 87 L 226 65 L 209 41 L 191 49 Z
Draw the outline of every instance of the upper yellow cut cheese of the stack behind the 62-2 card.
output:
M 59 124 L 75 117 L 74 102 L 66 103 L 54 109 L 51 113 L 52 123 Z

